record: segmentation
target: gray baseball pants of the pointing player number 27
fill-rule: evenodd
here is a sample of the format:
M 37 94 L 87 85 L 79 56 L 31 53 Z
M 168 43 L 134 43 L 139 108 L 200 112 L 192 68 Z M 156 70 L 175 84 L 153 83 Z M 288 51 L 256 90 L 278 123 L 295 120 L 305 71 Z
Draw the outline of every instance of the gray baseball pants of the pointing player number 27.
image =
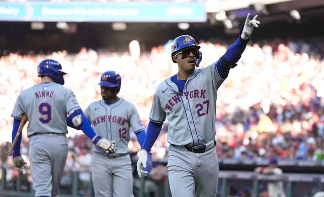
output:
M 216 197 L 219 168 L 215 147 L 193 153 L 170 146 L 167 166 L 172 196 Z

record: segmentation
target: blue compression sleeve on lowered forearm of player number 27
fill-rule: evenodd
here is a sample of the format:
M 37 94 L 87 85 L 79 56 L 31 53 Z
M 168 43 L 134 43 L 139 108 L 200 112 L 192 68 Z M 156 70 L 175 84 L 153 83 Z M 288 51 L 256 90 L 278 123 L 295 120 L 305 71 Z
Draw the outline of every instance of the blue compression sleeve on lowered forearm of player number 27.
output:
M 163 123 L 148 122 L 144 145 L 142 146 L 147 152 L 149 152 L 156 141 L 158 135 L 161 132 Z

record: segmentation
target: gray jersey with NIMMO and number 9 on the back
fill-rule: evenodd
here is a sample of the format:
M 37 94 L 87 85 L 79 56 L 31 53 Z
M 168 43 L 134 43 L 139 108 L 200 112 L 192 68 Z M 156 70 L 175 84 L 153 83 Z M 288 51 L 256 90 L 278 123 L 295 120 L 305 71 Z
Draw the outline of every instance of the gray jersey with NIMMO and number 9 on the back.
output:
M 54 82 L 36 84 L 22 91 L 12 117 L 28 117 L 27 136 L 35 133 L 67 133 L 66 115 L 80 109 L 71 89 Z

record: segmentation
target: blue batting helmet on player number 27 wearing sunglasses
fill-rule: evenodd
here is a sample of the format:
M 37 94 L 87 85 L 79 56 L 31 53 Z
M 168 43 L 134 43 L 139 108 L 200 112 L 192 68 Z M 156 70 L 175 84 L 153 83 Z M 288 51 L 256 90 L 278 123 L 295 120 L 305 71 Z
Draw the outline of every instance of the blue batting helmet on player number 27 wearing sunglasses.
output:
M 173 56 L 185 49 L 185 48 L 190 48 L 190 47 L 194 47 L 194 48 L 197 48 L 197 49 L 200 49 L 200 46 L 197 45 L 195 39 L 189 35 L 182 35 L 182 36 L 179 36 L 177 37 L 173 43 L 172 43 L 172 46 L 171 46 L 171 58 L 172 58 L 172 61 L 174 63 L 177 63 L 174 59 L 173 59 Z

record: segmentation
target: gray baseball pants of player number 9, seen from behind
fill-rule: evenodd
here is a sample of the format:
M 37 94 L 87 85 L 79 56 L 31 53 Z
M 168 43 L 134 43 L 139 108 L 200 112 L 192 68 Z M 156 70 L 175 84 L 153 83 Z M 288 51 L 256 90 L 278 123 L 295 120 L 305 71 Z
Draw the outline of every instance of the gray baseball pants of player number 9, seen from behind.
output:
M 29 160 L 35 196 L 59 196 L 59 185 L 67 157 L 67 140 L 62 135 L 36 135 L 29 139 Z

